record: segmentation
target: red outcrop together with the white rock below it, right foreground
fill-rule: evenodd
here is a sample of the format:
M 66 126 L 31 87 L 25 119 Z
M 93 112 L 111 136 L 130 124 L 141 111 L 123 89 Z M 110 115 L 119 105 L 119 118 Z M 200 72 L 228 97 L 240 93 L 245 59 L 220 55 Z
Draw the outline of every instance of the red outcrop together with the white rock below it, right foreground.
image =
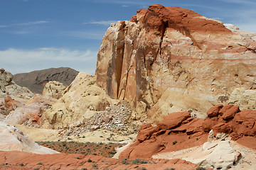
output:
M 170 113 L 156 126 L 144 124 L 137 140 L 117 157 L 180 158 L 213 169 L 253 169 L 256 111 L 218 105 L 207 115 L 203 119 L 191 118 L 188 112 Z

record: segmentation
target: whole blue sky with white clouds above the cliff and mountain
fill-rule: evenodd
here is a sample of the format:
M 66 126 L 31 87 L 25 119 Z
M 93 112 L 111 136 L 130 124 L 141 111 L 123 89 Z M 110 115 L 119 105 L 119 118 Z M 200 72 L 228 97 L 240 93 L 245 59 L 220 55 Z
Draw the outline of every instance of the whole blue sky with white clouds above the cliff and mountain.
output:
M 151 4 L 189 8 L 256 33 L 255 0 L 0 0 L 0 67 L 12 74 L 50 67 L 94 74 L 110 23 Z

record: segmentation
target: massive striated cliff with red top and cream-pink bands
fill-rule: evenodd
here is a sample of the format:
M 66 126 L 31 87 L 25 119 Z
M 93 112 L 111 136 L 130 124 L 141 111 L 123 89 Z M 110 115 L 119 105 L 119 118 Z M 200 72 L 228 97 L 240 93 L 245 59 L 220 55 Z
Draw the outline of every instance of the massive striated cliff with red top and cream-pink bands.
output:
M 255 33 L 155 4 L 107 29 L 96 83 L 112 98 L 146 106 L 141 113 L 155 123 L 177 111 L 203 116 L 218 103 L 253 109 L 255 99 L 244 101 L 256 91 L 255 47 Z M 238 88 L 250 91 L 234 94 Z

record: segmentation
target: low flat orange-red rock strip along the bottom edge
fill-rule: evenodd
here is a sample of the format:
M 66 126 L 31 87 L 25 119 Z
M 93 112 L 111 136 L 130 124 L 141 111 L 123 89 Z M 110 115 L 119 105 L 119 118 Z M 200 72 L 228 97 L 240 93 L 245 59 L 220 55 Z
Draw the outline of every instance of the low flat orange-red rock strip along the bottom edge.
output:
M 140 163 L 144 161 L 144 163 Z M 137 162 L 82 154 L 31 154 L 1 152 L 0 169 L 196 169 L 196 164 L 182 159 L 151 159 Z

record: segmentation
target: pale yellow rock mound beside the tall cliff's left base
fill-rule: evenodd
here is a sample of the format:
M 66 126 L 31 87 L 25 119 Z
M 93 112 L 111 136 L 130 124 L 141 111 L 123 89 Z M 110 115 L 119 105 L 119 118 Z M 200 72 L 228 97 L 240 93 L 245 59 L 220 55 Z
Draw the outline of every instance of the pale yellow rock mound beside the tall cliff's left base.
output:
M 43 128 L 62 128 L 104 111 L 116 100 L 95 85 L 95 77 L 80 72 L 61 98 L 46 111 Z

